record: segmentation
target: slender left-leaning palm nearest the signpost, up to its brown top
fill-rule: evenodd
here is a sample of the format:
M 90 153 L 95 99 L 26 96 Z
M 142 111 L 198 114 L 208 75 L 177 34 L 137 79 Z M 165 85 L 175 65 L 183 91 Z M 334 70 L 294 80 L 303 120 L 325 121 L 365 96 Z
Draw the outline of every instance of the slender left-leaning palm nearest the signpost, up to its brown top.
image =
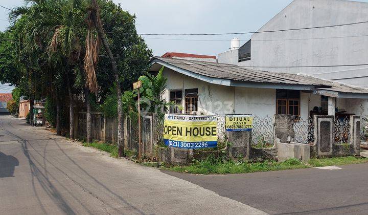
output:
M 108 45 L 105 31 L 103 29 L 103 25 L 100 17 L 100 7 L 96 0 L 91 0 L 91 4 L 87 8 L 87 24 L 88 24 L 88 32 L 96 29 L 98 32 L 98 39 L 101 40 L 103 47 L 105 48 L 108 57 L 111 61 L 112 72 L 114 74 L 114 79 L 116 81 L 117 87 L 117 97 L 118 97 L 118 150 L 119 157 L 124 157 L 124 142 L 123 142 L 123 105 L 122 105 L 122 92 L 120 85 L 120 78 L 117 68 L 117 63 L 112 55 L 111 49 Z M 88 50 L 94 51 L 94 50 Z M 88 52 L 87 51 L 87 52 Z M 91 55 L 93 55 L 91 53 Z M 87 56 L 87 54 L 86 54 Z

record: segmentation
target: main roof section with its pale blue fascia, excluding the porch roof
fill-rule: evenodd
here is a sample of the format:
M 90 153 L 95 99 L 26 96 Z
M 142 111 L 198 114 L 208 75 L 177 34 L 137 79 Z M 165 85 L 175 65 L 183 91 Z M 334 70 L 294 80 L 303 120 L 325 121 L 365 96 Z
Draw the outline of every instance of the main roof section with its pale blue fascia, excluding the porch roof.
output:
M 314 77 L 256 71 L 224 63 L 155 57 L 151 68 L 155 64 L 205 82 L 234 87 L 314 91 L 316 87 L 331 85 Z

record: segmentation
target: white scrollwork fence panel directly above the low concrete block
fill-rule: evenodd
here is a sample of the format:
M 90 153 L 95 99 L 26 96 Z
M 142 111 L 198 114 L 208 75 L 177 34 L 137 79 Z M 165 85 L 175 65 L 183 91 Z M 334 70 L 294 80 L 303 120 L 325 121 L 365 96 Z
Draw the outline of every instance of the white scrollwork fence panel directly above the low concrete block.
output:
M 304 120 L 302 117 L 295 119 L 294 123 L 295 142 L 310 143 L 314 141 L 313 117 Z

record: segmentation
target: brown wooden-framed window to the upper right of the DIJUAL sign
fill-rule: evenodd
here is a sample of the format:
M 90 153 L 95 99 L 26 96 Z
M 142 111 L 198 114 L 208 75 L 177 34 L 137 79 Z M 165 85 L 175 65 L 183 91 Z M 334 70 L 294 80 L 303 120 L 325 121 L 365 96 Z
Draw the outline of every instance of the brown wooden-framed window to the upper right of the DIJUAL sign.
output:
M 277 114 L 300 115 L 300 91 L 276 90 Z

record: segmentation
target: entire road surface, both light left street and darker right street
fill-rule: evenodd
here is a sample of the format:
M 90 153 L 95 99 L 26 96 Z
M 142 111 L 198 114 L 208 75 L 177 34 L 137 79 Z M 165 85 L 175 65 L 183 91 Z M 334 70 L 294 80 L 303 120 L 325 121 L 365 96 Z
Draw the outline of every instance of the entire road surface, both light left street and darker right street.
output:
M 368 214 L 367 186 L 368 164 L 208 176 L 160 171 L 0 116 L 1 214 Z

